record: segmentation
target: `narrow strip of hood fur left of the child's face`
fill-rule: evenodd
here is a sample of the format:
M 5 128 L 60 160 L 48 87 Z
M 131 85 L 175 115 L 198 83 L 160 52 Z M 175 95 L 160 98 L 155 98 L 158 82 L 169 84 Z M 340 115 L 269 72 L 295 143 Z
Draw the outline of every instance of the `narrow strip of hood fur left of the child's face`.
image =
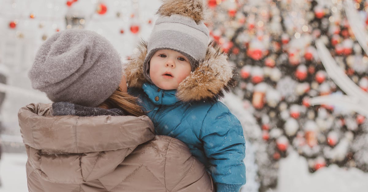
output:
M 143 63 L 147 55 L 147 42 L 141 40 L 138 51 L 128 57 L 128 63 L 124 66 L 124 74 L 130 87 L 141 88 L 147 80 L 143 76 Z

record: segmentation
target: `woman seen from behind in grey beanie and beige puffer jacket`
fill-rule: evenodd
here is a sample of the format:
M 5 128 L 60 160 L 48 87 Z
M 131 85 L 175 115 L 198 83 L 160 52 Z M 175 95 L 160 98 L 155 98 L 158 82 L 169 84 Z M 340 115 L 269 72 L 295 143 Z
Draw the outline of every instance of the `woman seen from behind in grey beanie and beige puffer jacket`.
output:
M 155 136 L 128 95 L 120 58 L 102 36 L 56 33 L 29 71 L 54 103 L 20 109 L 29 191 L 213 191 L 187 146 Z

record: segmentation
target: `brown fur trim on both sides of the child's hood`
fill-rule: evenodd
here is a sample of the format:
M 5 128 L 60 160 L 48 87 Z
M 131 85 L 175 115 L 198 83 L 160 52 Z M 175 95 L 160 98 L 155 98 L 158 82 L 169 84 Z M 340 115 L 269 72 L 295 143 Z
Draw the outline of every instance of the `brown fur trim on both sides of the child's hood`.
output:
M 147 42 L 142 40 L 138 51 L 128 57 L 125 65 L 125 77 L 128 87 L 142 88 L 148 82 L 143 75 L 143 64 L 147 54 Z M 235 86 L 233 66 L 227 62 L 227 56 L 220 47 L 208 45 L 206 57 L 199 62 L 198 67 L 188 75 L 177 89 L 176 97 L 183 102 L 211 100 L 216 101 Z

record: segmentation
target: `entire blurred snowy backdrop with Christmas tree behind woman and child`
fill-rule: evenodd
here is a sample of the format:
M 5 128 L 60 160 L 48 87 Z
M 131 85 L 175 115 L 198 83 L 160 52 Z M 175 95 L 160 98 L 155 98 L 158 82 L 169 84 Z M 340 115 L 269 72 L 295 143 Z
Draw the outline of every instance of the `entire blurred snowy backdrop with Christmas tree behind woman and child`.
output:
M 58 31 L 88 29 L 123 61 L 148 39 L 161 0 L 0 0 L 0 181 L 28 191 L 17 112 L 50 102 L 27 77 Z M 368 0 L 205 0 L 236 66 L 222 100 L 247 141 L 242 192 L 368 189 Z

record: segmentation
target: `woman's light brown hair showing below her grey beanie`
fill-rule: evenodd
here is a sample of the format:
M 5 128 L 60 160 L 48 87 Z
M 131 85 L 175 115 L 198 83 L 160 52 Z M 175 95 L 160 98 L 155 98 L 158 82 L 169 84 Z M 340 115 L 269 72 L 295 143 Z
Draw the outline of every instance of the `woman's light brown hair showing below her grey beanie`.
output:
M 131 96 L 129 93 L 122 92 L 121 89 L 117 89 L 98 107 L 105 109 L 118 108 L 126 112 L 127 115 L 132 116 L 145 115 L 142 107 L 139 106 L 137 102 L 137 97 Z

